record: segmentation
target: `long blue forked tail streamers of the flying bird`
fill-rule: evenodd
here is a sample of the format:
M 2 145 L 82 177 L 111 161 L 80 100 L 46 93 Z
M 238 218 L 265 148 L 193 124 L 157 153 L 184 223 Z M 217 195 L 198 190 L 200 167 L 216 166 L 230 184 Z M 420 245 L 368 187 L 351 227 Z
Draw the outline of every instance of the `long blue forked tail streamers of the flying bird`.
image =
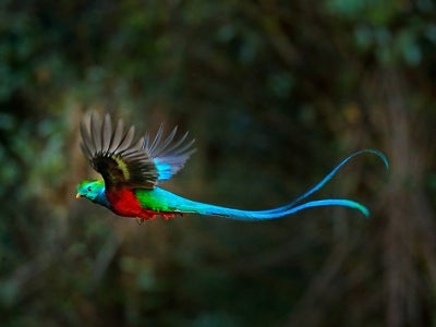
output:
M 317 199 L 317 201 L 311 201 L 306 203 L 302 203 L 303 199 L 307 198 L 312 194 L 314 194 L 316 191 L 322 189 L 337 172 L 338 170 L 343 167 L 351 158 L 361 155 L 361 154 L 374 154 L 378 156 L 383 162 L 385 164 L 386 168 L 389 168 L 388 160 L 386 159 L 386 156 L 375 149 L 363 149 L 360 152 L 356 152 L 346 159 L 343 159 L 341 162 L 339 162 L 338 166 L 336 166 L 322 181 L 319 181 L 316 185 L 311 187 L 307 192 L 295 198 L 294 201 L 287 203 L 280 207 L 276 207 L 272 209 L 267 209 L 267 210 L 241 210 L 241 209 L 233 209 L 233 208 L 227 208 L 227 207 L 221 207 L 221 206 L 215 206 L 215 205 L 209 205 L 205 203 L 198 203 L 190 199 L 185 199 L 182 197 L 178 197 L 178 211 L 180 213 L 195 213 L 195 214 L 201 214 L 201 215 L 209 215 L 209 216 L 221 216 L 221 217 L 227 217 L 227 218 L 232 218 L 235 220 L 268 220 L 268 219 L 276 219 L 280 218 L 283 216 L 288 216 L 291 214 L 295 214 L 298 211 L 301 211 L 306 208 L 313 208 L 313 207 L 320 207 L 320 206 L 342 206 L 342 207 L 349 207 L 353 209 L 360 210 L 364 216 L 368 217 L 370 211 L 368 209 L 352 199 L 346 199 L 346 198 L 326 198 L 326 199 Z

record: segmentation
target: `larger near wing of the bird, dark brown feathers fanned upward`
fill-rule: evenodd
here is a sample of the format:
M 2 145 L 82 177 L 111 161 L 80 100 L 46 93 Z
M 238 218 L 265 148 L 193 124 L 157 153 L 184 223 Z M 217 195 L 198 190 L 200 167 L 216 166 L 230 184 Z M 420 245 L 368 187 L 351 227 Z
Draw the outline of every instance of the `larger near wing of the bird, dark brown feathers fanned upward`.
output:
M 147 150 L 144 137 L 134 142 L 135 128 L 124 130 L 122 120 L 113 129 L 109 114 L 104 119 L 92 114 L 81 122 L 82 150 L 98 171 L 107 190 L 132 187 L 153 189 L 158 168 Z

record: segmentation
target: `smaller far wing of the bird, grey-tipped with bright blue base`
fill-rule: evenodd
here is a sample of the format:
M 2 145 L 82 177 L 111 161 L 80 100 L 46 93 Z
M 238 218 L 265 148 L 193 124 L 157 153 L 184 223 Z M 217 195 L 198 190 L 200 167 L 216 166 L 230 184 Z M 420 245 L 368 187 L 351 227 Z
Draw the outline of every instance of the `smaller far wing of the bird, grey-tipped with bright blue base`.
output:
M 160 125 L 154 138 L 149 134 L 144 137 L 143 147 L 156 165 L 159 181 L 169 180 L 174 175 L 195 152 L 192 148 L 195 140 L 187 140 L 187 132 L 175 138 L 177 131 L 178 128 L 174 128 L 164 137 L 164 126 Z

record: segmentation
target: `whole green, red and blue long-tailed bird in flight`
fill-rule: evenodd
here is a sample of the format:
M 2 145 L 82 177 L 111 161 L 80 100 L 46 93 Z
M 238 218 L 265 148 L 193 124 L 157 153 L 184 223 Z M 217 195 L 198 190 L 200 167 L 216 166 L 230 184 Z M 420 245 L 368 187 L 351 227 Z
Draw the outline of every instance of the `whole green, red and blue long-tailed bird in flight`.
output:
M 135 140 L 135 126 L 124 129 L 123 120 L 112 124 L 109 113 L 93 112 L 80 123 L 81 148 L 90 167 L 101 178 L 84 180 L 77 185 L 76 198 L 87 198 L 118 216 L 136 218 L 138 222 L 157 216 L 170 219 L 183 214 L 218 216 L 235 220 L 259 221 L 286 217 L 303 209 L 320 206 L 342 206 L 370 216 L 366 206 L 347 198 L 325 198 L 303 202 L 322 189 L 350 159 L 372 154 L 388 169 L 386 156 L 377 149 L 358 150 L 340 161 L 318 183 L 295 199 L 264 210 L 243 210 L 202 203 L 182 197 L 159 186 L 171 179 L 195 152 L 195 140 L 189 133 L 177 136 L 175 126 L 164 136 L 161 124 L 154 137 L 146 133 Z

